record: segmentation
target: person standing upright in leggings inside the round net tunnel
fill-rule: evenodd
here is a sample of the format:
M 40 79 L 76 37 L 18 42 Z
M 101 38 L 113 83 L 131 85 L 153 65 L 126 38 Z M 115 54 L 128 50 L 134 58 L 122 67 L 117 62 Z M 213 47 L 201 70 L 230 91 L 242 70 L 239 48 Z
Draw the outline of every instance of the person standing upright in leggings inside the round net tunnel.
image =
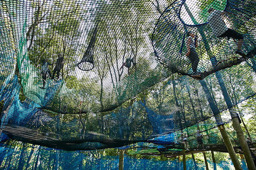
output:
M 199 72 L 197 72 L 197 66 L 199 63 L 199 57 L 197 54 L 197 51 L 195 51 L 195 48 L 197 47 L 197 37 L 194 33 L 191 31 L 187 32 L 187 54 L 186 56 L 189 58 L 192 66 L 192 75 L 200 75 Z

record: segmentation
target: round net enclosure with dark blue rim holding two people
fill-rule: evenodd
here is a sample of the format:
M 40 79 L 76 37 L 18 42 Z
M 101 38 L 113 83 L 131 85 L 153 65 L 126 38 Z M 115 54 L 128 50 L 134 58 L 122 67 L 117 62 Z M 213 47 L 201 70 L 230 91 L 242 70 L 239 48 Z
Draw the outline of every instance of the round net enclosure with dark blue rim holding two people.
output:
M 209 16 L 209 8 L 219 13 Z M 238 65 L 255 56 L 255 17 L 253 1 L 227 0 L 210 5 L 200 1 L 175 1 L 165 9 L 155 26 L 152 35 L 155 55 L 172 72 L 201 80 L 216 71 Z M 227 27 L 215 26 L 221 24 Z M 233 32 L 224 38 L 219 37 L 228 28 Z M 230 39 L 230 36 L 235 36 L 235 39 Z M 194 46 L 190 55 L 187 54 L 188 38 L 191 41 L 189 48 Z M 236 53 L 239 43 L 237 38 L 242 39 L 240 52 L 245 55 Z M 195 77 L 195 72 L 199 72 L 200 76 Z

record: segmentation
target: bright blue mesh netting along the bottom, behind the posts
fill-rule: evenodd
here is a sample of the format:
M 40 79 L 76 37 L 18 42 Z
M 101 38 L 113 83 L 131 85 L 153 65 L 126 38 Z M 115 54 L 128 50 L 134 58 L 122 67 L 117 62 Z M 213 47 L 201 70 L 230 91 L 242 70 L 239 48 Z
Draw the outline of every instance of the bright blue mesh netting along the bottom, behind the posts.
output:
M 3 169 L 80 169 L 80 170 L 116 170 L 119 167 L 119 156 L 101 155 L 99 150 L 87 152 L 66 152 L 62 150 L 51 150 L 46 147 L 27 146 L 20 143 L 19 146 L 0 147 L 0 167 Z M 103 152 L 104 153 L 104 152 Z M 182 159 L 160 161 L 157 159 L 136 159 L 124 155 L 124 170 L 140 169 L 183 169 Z M 214 163 L 211 159 L 207 160 L 209 168 L 220 170 L 232 170 L 233 164 L 230 159 L 224 159 Z M 230 163 L 231 162 L 231 163 Z M 247 169 L 245 162 L 241 161 L 244 170 Z M 193 159 L 186 159 L 188 169 L 205 169 L 204 162 L 195 162 Z M 195 168 L 197 167 L 197 168 Z

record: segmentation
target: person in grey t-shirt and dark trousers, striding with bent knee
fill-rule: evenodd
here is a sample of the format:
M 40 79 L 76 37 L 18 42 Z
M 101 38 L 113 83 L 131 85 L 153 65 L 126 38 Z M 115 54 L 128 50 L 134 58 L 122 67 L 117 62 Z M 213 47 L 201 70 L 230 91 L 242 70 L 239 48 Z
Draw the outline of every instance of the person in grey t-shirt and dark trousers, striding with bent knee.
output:
M 236 42 L 237 50 L 236 54 L 239 54 L 242 57 L 246 55 L 242 52 L 242 44 L 244 41 L 244 37 L 242 34 L 232 30 L 226 26 L 226 23 L 223 21 L 222 16 L 225 14 L 222 11 L 215 10 L 213 8 L 208 9 L 209 17 L 207 18 L 208 23 L 212 28 L 212 32 L 216 37 L 227 37 L 232 38 Z

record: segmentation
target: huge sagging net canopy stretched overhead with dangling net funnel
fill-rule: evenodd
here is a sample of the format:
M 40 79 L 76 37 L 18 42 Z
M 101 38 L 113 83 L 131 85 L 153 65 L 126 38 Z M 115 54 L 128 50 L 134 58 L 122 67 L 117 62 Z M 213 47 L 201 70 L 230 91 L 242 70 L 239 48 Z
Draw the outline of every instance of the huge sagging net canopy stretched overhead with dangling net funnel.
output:
M 255 23 L 255 2 L 221 2 L 229 20 L 243 19 L 234 24 L 247 34 L 242 46 L 247 57 L 221 62 L 227 67 L 218 70 L 201 65 L 207 76 L 200 81 L 173 60 L 184 54 L 181 45 L 167 45 L 174 41 L 165 38 L 178 35 L 175 43 L 182 44 L 185 28 L 199 35 L 200 26 L 219 55 L 215 61 L 238 56 L 233 40 L 218 40 L 207 29 L 206 11 L 198 13 L 199 24 L 184 23 L 186 15 L 172 20 L 185 2 L 1 1 L 0 125 L 6 138 L 65 150 L 118 147 L 190 127 L 254 96 L 255 27 L 250 24 Z M 191 2 L 194 11 L 202 9 L 204 1 Z M 211 1 L 205 8 L 218 4 Z M 169 23 L 169 34 L 160 32 L 159 21 Z M 225 55 L 216 51 L 221 43 Z M 171 67 L 159 58 L 165 54 L 157 51 L 163 44 L 170 47 L 162 57 Z M 209 63 L 212 58 L 202 50 L 200 59 Z

